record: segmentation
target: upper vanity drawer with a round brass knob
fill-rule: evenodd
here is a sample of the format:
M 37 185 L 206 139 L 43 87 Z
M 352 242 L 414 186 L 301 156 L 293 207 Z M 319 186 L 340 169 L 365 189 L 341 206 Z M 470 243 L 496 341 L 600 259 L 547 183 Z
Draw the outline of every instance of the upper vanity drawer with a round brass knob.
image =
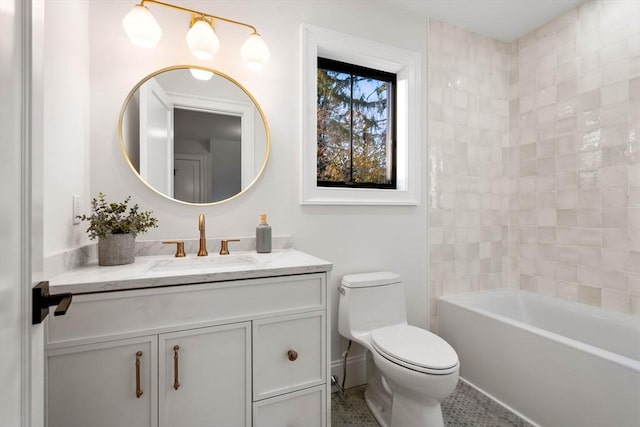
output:
M 253 322 L 253 398 L 265 399 L 325 382 L 325 312 Z

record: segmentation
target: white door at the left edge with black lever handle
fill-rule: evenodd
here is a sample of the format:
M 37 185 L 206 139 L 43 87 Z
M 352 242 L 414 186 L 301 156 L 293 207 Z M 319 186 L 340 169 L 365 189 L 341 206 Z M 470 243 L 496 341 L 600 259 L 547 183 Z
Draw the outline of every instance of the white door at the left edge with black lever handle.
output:
M 43 8 L 42 1 L 0 1 L 2 427 L 44 422 L 43 332 L 31 326 L 29 306 L 42 267 Z

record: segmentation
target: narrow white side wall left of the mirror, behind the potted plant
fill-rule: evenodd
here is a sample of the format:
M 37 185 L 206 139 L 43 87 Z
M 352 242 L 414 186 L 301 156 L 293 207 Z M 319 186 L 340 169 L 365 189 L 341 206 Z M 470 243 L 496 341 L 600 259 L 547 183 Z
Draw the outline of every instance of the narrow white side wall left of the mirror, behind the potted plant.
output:
M 44 253 L 88 242 L 73 226 L 72 196 L 83 212 L 89 188 L 89 2 L 45 2 Z

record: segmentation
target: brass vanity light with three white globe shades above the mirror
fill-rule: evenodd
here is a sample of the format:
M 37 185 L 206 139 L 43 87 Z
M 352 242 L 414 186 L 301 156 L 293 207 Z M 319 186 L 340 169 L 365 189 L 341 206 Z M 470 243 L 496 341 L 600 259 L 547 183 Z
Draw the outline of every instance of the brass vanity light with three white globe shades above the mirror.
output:
M 216 54 L 220 42 L 213 29 L 213 24 L 214 21 L 217 20 L 240 25 L 251 30 L 251 34 L 247 37 L 240 49 L 240 56 L 250 68 L 261 69 L 269 61 L 269 49 L 253 25 L 157 0 L 141 0 L 140 3 L 136 4 L 122 19 L 122 25 L 127 36 L 129 36 L 131 42 L 136 46 L 150 49 L 154 47 L 160 40 L 160 37 L 162 37 L 162 29 L 158 21 L 156 21 L 151 14 L 151 11 L 145 6 L 145 3 L 157 4 L 191 15 L 186 40 L 191 53 L 193 53 L 196 58 L 212 59 Z

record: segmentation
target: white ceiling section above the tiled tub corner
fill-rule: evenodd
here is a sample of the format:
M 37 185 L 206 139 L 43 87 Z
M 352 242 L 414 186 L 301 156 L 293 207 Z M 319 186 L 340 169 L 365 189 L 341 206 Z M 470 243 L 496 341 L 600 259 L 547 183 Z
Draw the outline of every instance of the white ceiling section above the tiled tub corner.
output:
M 586 0 L 379 0 L 505 42 Z

